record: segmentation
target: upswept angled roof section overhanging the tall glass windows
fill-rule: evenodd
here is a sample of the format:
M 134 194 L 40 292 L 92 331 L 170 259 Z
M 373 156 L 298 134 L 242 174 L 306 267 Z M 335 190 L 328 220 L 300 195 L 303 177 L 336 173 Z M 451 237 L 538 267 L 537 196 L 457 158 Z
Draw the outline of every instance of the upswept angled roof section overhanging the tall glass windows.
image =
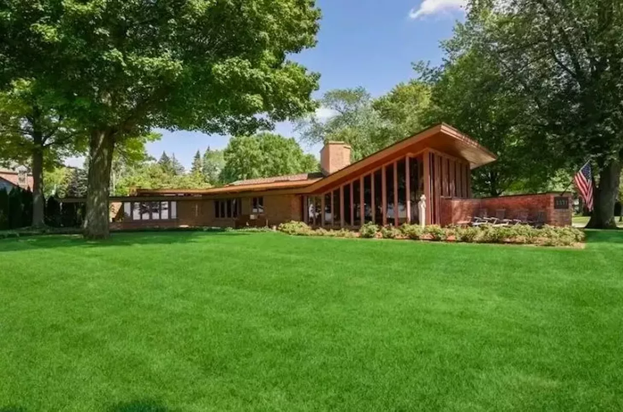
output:
M 406 156 L 416 156 L 426 149 L 432 149 L 469 162 L 470 168 L 483 166 L 497 159 L 497 156 L 478 144 L 466 134 L 448 124 L 441 123 L 403 139 L 371 156 L 318 180 L 306 188 L 311 194 L 321 193 L 327 187 L 335 187 L 358 176 L 368 174 L 384 164 Z

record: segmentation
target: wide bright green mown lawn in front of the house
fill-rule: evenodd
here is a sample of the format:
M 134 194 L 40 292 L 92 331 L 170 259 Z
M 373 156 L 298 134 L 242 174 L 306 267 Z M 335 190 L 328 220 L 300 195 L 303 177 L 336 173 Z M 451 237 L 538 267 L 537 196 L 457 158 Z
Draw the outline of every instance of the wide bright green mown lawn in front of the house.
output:
M 49 236 L 0 265 L 0 411 L 623 410 L 623 231 Z

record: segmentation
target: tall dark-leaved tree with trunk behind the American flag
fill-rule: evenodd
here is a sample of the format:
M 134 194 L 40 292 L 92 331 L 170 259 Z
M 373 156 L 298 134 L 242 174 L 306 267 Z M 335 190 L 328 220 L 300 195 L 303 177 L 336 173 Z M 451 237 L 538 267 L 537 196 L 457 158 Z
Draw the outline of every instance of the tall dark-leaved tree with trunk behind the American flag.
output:
M 555 154 L 597 187 L 587 227 L 614 228 L 623 160 L 623 9 L 615 1 L 472 0 L 468 30 L 531 99 Z

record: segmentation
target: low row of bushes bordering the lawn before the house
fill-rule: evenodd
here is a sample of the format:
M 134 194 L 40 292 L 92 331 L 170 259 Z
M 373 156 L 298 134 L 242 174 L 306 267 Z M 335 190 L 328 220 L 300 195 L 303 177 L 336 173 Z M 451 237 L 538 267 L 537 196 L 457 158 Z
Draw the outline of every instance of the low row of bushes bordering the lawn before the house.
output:
M 457 241 L 465 243 L 520 243 L 545 246 L 571 246 L 584 241 L 584 232 L 573 227 L 534 228 L 528 225 L 478 227 L 440 227 L 409 225 L 401 227 L 379 227 L 366 223 L 359 232 L 351 230 L 313 229 L 303 222 L 288 222 L 279 225 L 278 230 L 295 236 L 333 236 L 381 239 L 411 239 L 430 241 Z

